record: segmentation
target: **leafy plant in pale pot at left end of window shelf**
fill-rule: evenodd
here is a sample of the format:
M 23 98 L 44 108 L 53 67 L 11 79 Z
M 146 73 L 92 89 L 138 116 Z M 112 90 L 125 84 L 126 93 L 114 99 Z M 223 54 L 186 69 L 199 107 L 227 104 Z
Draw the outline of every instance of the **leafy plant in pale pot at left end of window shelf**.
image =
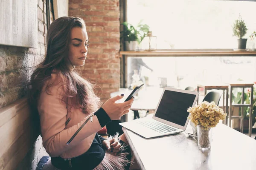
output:
M 145 34 L 148 33 L 149 26 L 141 24 L 141 22 L 136 28 L 127 22 L 122 23 L 122 25 L 123 31 L 120 32 L 120 40 L 125 42 L 125 50 L 136 51 L 137 43 L 140 44 L 145 37 Z

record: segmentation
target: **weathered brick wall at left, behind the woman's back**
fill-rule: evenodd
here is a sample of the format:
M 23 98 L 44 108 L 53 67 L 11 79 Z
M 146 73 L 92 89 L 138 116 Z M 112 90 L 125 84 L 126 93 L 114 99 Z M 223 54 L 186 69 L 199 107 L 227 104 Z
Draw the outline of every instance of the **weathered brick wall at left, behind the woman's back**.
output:
M 0 45 L 0 108 L 26 95 L 24 85 L 45 54 L 46 33 L 46 4 L 38 0 L 38 48 Z M 35 170 L 43 155 L 47 153 L 39 136 L 18 170 Z

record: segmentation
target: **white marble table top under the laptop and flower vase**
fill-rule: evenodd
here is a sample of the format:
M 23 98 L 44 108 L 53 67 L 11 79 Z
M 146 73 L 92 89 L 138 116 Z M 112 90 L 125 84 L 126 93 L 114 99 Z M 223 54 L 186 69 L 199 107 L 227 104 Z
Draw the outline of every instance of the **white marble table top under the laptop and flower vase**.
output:
M 221 123 L 212 130 L 209 151 L 185 132 L 145 139 L 123 131 L 142 170 L 256 170 L 256 140 Z

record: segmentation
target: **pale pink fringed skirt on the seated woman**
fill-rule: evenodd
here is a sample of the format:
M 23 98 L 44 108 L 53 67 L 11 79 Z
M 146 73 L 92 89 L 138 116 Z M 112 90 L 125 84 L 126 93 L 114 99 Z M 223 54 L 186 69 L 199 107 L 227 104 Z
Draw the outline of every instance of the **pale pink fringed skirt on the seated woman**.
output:
M 106 152 L 103 160 L 93 170 L 126 170 L 131 164 L 131 150 L 125 142 L 120 141 L 118 134 L 110 136 L 107 139 L 117 138 L 120 142 L 121 147 L 119 153 L 115 155 Z M 43 165 L 43 170 L 59 170 L 54 167 L 51 163 L 51 158 L 48 159 L 47 163 Z

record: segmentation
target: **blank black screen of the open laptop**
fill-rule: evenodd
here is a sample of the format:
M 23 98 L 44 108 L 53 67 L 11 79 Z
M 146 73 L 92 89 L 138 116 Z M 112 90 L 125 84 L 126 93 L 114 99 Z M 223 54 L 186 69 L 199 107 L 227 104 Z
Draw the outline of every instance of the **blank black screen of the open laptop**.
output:
M 165 90 L 155 116 L 184 126 L 189 116 L 187 109 L 192 107 L 195 97 L 195 94 Z

